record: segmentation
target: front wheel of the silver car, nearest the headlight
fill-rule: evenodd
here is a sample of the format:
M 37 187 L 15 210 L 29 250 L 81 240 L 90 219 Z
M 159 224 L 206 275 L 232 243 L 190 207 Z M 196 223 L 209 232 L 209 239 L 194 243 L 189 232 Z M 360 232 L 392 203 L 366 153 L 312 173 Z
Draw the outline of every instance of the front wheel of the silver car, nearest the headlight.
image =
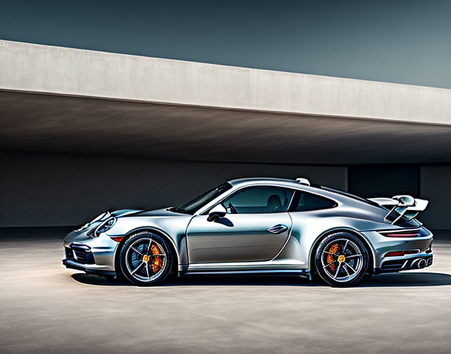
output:
M 171 272 L 171 248 L 163 237 L 141 231 L 125 241 L 119 253 L 119 263 L 122 274 L 133 284 L 157 285 Z

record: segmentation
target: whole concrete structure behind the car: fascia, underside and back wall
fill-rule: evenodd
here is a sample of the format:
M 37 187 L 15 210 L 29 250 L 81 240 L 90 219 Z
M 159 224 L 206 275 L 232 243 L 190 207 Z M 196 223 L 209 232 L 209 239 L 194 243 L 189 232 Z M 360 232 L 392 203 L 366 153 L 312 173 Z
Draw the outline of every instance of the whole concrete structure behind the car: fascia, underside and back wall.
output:
M 106 209 L 178 205 L 241 176 L 306 176 L 363 197 L 429 199 L 420 219 L 451 229 L 451 167 L 420 165 L 450 161 L 451 90 L 3 40 L 0 63 L 0 148 L 57 151 L 0 151 L 0 226 L 76 225 Z M 143 149 L 262 163 L 114 155 Z M 327 165 L 382 161 L 416 165 Z

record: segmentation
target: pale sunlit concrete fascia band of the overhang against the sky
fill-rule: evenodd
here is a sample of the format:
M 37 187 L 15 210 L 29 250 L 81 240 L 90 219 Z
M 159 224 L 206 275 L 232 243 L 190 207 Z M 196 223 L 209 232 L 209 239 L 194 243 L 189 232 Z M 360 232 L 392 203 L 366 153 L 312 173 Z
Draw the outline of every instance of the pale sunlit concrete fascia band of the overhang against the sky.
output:
M 451 124 L 451 90 L 0 40 L 0 89 Z

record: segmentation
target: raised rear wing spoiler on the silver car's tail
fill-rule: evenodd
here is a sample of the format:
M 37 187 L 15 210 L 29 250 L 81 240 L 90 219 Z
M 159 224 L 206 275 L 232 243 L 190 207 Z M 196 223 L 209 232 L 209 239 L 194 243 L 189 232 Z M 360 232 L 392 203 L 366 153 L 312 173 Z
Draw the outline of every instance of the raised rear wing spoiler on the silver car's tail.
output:
M 407 195 L 392 198 L 369 198 L 369 200 L 390 210 L 384 219 L 389 220 L 392 225 L 403 216 L 407 220 L 412 220 L 420 211 L 426 209 L 429 203 L 425 199 L 415 199 Z

